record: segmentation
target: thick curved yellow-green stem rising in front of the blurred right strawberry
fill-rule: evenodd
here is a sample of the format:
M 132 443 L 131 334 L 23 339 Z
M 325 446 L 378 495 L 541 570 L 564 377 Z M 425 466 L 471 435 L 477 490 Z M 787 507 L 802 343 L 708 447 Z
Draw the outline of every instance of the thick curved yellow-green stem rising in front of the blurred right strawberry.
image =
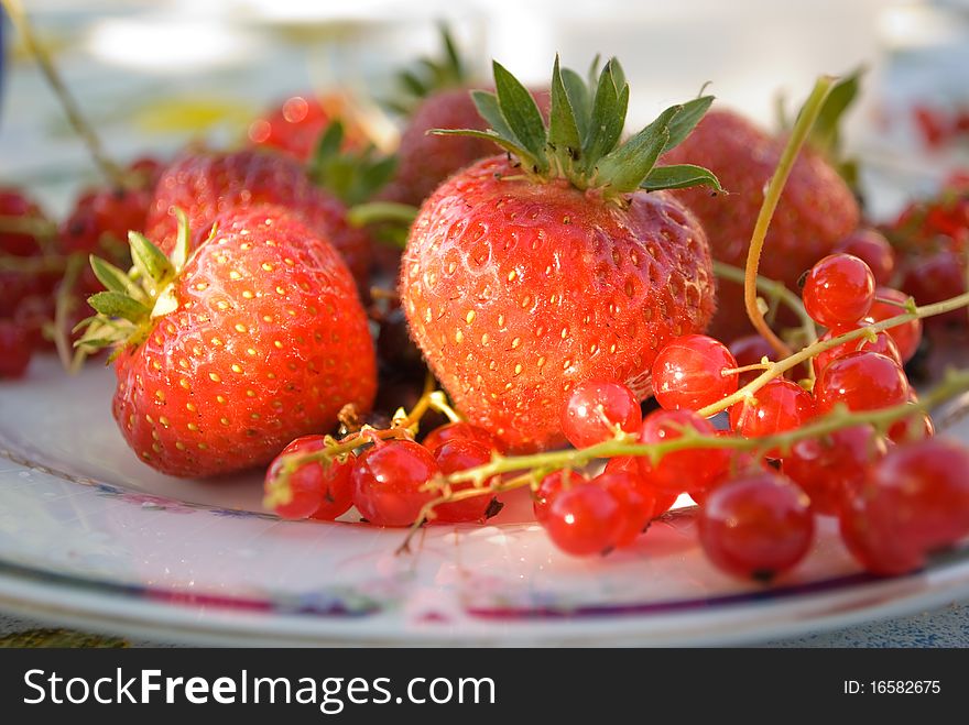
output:
M 771 343 L 771 347 L 777 351 L 777 354 L 782 356 L 790 355 L 792 350 L 774 333 L 764 319 L 760 307 L 758 307 L 758 268 L 760 267 L 761 253 L 764 249 L 767 229 L 771 226 L 771 219 L 774 217 L 774 211 L 777 209 L 777 204 L 781 200 L 784 185 L 787 183 L 787 177 L 791 175 L 791 169 L 794 167 L 797 154 L 810 133 L 810 129 L 817 120 L 825 99 L 828 97 L 834 85 L 835 78 L 832 76 L 819 77 L 817 81 L 815 81 L 814 90 L 812 90 L 810 96 L 808 96 L 807 101 L 804 103 L 804 108 L 801 109 L 801 114 L 794 123 L 794 129 L 791 131 L 791 136 L 787 140 L 787 144 L 784 146 L 784 152 L 781 154 L 781 161 L 777 163 L 777 168 L 774 171 L 774 175 L 771 177 L 771 182 L 767 184 L 767 188 L 764 191 L 764 202 L 758 215 L 747 254 L 747 267 L 743 284 L 743 303 L 747 307 L 747 315 L 750 317 L 750 321 L 754 329 L 760 332 L 761 336 Z

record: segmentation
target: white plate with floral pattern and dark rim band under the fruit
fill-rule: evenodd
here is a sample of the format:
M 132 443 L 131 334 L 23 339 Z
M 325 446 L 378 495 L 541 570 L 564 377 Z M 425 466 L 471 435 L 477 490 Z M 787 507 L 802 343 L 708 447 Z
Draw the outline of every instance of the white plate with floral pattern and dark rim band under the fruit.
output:
M 772 587 L 704 558 L 688 510 L 606 559 L 555 551 L 527 502 L 486 527 L 400 530 L 281 521 L 260 476 L 186 482 L 129 451 L 113 375 L 53 360 L 0 383 L 0 607 L 152 639 L 233 645 L 718 645 L 969 596 L 969 549 L 880 580 L 832 527 Z

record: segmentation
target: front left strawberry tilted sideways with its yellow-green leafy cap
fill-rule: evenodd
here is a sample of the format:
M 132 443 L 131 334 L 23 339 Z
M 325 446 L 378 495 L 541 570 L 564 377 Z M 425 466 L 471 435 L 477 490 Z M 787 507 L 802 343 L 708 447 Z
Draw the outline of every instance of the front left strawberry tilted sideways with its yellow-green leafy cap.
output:
M 92 259 L 83 349 L 112 344 L 112 410 L 132 450 L 177 476 L 268 463 L 291 440 L 372 404 L 375 360 L 352 277 L 323 238 L 280 207 L 233 209 L 188 257 L 131 234 L 135 268 Z M 186 261 L 187 259 L 187 261 Z

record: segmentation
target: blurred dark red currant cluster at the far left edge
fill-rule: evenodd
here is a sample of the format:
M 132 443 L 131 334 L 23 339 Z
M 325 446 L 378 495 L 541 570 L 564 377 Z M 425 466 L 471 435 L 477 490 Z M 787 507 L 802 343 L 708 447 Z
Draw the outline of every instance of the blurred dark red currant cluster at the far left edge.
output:
M 144 228 L 160 171 L 134 162 L 123 186 L 83 190 L 59 224 L 21 190 L 0 188 L 0 378 L 22 376 L 35 350 L 87 317 L 84 300 L 104 288 L 88 255 L 130 265 L 128 231 Z

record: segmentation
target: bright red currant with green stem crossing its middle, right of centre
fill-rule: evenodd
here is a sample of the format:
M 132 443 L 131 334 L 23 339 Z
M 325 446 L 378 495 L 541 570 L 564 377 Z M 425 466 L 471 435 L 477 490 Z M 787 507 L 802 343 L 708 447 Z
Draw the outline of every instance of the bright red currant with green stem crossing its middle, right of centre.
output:
M 663 443 L 683 436 L 693 428 L 704 436 L 715 433 L 709 420 L 688 410 L 654 410 L 640 428 L 641 443 Z M 723 449 L 690 448 L 666 453 L 653 465 L 647 457 L 640 458 L 640 472 L 646 483 L 666 494 L 681 494 L 703 488 L 727 465 L 729 454 Z

